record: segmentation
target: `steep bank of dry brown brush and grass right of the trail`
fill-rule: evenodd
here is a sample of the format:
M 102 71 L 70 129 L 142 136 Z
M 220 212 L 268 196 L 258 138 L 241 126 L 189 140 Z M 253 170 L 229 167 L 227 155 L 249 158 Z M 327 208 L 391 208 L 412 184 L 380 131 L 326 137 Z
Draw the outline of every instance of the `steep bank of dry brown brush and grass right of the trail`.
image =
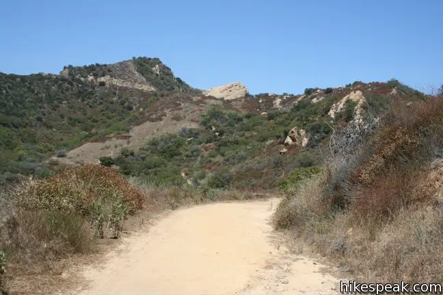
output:
M 442 166 L 430 165 L 443 157 L 442 119 L 441 97 L 395 101 L 351 156 L 286 196 L 276 228 L 366 281 L 443 281 Z

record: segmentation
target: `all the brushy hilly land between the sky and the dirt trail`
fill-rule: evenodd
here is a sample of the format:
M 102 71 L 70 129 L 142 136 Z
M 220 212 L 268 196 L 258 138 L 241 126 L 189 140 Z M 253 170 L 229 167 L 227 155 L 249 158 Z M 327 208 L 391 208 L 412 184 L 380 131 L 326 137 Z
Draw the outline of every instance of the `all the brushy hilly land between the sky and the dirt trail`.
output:
M 0 292 L 63 281 L 66 259 L 135 227 L 134 214 L 269 195 L 285 196 L 277 229 L 356 274 L 399 279 L 397 262 L 436 270 L 431 236 L 402 241 L 406 227 L 441 232 L 431 210 L 441 203 L 441 110 L 439 98 L 394 79 L 304 94 L 199 90 L 146 57 L 0 74 Z M 429 218 L 416 223 L 420 210 Z

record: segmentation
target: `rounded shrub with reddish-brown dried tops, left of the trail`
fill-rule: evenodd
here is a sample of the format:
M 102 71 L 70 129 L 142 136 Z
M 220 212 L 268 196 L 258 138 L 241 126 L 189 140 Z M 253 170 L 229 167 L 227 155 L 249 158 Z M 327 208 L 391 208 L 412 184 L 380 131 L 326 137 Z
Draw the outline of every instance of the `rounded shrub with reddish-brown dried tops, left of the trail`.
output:
M 142 193 L 118 171 L 100 165 L 72 167 L 53 178 L 38 180 L 18 191 L 17 198 L 25 210 L 41 210 L 56 216 L 51 219 L 54 222 L 63 222 L 66 214 L 79 214 L 96 228 L 101 238 L 107 224 L 118 236 L 126 216 L 142 208 L 143 202 Z M 72 221 L 73 217 L 67 218 Z M 57 228 L 61 226 L 65 225 L 59 224 Z

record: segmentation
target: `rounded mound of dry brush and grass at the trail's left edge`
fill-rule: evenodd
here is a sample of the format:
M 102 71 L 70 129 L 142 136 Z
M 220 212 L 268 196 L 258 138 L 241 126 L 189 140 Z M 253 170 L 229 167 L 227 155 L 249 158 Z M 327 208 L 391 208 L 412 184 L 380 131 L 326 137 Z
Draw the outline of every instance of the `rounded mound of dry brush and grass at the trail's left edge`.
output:
M 7 278 L 20 294 L 27 282 L 44 287 L 62 273 L 66 261 L 96 251 L 95 234 L 118 236 L 144 195 L 118 171 L 98 165 L 72 167 L 53 178 L 29 180 L 0 204 L 0 251 Z M 33 279 L 30 279 L 33 278 Z

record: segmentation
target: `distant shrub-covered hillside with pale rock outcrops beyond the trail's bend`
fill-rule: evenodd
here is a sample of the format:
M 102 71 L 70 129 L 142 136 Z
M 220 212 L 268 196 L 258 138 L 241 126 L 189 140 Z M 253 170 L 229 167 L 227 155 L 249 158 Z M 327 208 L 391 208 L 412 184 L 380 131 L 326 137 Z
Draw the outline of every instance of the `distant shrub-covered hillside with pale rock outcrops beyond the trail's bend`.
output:
M 377 116 L 392 98 L 422 94 L 394 80 L 301 95 L 250 95 L 239 83 L 201 92 L 159 59 L 138 57 L 66 66 L 60 75 L 0 74 L 0 96 L 3 184 L 110 157 L 123 173 L 155 182 L 271 188 L 296 167 L 319 164 L 318 147 L 334 126 Z M 295 137 L 299 143 L 285 147 Z

